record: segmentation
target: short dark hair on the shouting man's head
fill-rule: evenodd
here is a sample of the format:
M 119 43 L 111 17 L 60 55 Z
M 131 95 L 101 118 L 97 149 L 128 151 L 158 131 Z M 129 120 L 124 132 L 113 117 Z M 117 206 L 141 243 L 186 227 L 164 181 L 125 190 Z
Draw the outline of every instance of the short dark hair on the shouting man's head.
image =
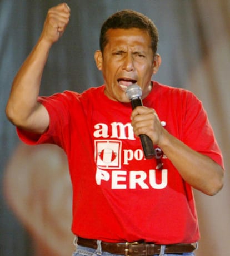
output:
M 106 32 L 109 29 L 129 29 L 129 28 L 139 28 L 141 30 L 147 31 L 151 37 L 151 45 L 153 54 L 157 52 L 158 45 L 158 30 L 155 24 L 144 14 L 124 9 L 122 11 L 112 14 L 104 23 L 102 24 L 101 34 L 100 34 L 100 50 L 104 51 L 104 47 L 108 42 Z

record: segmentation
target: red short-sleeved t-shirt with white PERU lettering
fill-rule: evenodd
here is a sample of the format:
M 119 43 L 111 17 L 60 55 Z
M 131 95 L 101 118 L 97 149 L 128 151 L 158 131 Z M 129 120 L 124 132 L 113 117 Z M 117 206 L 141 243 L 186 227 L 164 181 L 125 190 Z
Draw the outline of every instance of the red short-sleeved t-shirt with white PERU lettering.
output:
M 104 86 L 82 94 L 66 91 L 40 97 L 50 125 L 38 140 L 18 129 L 28 144 L 54 143 L 66 151 L 73 184 L 74 234 L 107 242 L 146 240 L 158 244 L 199 239 L 192 188 L 156 146 L 144 159 L 130 124 L 131 104 L 108 99 Z M 153 82 L 143 105 L 192 149 L 223 166 L 206 112 L 191 92 Z

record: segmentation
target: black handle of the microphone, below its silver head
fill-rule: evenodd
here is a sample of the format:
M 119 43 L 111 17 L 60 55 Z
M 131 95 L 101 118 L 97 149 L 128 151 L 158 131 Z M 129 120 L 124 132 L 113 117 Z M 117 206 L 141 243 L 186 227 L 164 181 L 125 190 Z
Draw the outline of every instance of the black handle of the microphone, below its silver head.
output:
M 131 99 L 131 105 L 132 109 L 135 109 L 135 107 L 137 106 L 143 106 L 141 98 L 135 97 Z M 144 156 L 146 157 L 146 159 L 152 159 L 155 156 L 155 150 L 152 140 L 149 138 L 149 136 L 145 134 L 141 134 L 139 135 L 139 137 L 141 139 L 141 145 L 144 151 Z

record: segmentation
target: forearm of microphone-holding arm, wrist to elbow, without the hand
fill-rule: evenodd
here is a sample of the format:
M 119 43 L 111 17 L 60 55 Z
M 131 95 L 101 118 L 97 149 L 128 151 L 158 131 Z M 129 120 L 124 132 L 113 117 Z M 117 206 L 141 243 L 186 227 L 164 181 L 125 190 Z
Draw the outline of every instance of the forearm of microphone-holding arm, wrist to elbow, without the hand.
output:
M 180 140 L 163 131 L 161 149 L 193 188 L 214 195 L 223 186 L 223 169 L 206 155 L 192 150 Z

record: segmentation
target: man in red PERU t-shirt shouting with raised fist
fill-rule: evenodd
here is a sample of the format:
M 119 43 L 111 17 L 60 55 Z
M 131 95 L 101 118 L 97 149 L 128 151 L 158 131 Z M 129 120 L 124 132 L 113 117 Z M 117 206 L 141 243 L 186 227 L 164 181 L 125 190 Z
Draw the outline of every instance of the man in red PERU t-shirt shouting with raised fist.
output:
M 192 187 L 214 195 L 223 186 L 221 151 L 201 102 L 151 81 L 161 64 L 157 28 L 127 10 L 101 29 L 95 60 L 105 85 L 38 97 L 49 50 L 69 16 L 64 3 L 49 9 L 6 113 L 24 142 L 54 143 L 67 154 L 74 255 L 194 255 L 199 228 Z M 134 110 L 126 96 L 132 84 L 141 87 L 144 105 Z M 155 158 L 145 159 L 139 135 L 152 140 Z

